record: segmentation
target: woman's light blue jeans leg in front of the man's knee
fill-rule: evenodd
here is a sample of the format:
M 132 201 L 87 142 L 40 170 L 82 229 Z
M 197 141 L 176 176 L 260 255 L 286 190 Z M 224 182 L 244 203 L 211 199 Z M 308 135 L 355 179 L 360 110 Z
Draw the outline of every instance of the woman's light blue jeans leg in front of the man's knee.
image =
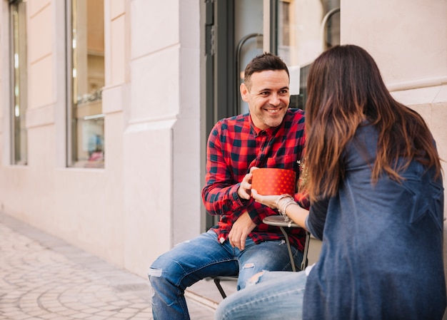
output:
M 265 272 L 256 284 L 224 299 L 215 319 L 301 320 L 306 279 L 306 272 Z

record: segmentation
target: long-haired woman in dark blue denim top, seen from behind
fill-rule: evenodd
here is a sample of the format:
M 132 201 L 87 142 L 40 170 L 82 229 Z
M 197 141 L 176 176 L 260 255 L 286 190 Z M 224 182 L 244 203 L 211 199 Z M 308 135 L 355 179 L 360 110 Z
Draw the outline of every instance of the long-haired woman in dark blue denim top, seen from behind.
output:
M 216 319 L 441 319 L 443 185 L 426 123 L 346 45 L 311 66 L 306 130 L 310 212 L 288 195 L 251 195 L 321 239 L 318 262 L 258 274 Z

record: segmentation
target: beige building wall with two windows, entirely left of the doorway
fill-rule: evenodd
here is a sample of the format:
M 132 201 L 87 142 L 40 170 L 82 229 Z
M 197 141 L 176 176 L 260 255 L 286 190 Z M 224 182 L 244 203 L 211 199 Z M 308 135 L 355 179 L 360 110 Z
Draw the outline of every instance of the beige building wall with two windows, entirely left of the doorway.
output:
M 1 0 L 0 209 L 146 277 L 161 252 L 200 232 L 199 3 L 104 1 L 104 169 L 65 166 L 64 10 L 27 2 L 29 163 L 11 166 Z

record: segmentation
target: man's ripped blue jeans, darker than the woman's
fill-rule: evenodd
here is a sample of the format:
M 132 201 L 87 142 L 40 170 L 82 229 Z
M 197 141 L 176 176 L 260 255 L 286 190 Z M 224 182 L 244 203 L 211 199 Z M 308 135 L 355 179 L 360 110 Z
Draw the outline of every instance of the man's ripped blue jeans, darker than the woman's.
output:
M 295 263 L 301 264 L 303 253 L 294 247 L 292 253 Z M 253 274 L 263 270 L 291 270 L 286 242 L 254 244 L 247 238 L 246 248 L 240 251 L 228 240 L 220 244 L 213 230 L 182 242 L 149 269 L 154 320 L 189 319 L 184 290 L 201 279 L 238 275 L 238 289 L 242 289 Z

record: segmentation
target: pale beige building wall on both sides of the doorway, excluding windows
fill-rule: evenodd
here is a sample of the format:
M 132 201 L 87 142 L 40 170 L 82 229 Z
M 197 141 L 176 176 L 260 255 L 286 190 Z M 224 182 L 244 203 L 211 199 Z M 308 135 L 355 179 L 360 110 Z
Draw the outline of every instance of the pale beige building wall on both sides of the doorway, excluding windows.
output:
M 146 277 L 159 254 L 203 225 L 199 1 L 104 0 L 104 169 L 65 165 L 60 0 L 27 2 L 29 164 L 10 165 L 8 1 L 0 1 L 0 210 Z M 446 16 L 445 0 L 341 1 L 341 42 L 373 55 L 393 96 L 426 119 L 443 159 Z

